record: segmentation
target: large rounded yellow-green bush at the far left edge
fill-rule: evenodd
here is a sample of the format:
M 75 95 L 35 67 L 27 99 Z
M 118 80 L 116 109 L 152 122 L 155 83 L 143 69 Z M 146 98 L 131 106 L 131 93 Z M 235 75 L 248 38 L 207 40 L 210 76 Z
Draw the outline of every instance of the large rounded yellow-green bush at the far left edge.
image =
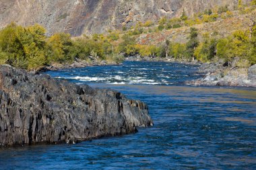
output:
M 1 62 L 32 70 L 46 62 L 45 30 L 38 24 L 22 28 L 9 24 L 0 32 Z

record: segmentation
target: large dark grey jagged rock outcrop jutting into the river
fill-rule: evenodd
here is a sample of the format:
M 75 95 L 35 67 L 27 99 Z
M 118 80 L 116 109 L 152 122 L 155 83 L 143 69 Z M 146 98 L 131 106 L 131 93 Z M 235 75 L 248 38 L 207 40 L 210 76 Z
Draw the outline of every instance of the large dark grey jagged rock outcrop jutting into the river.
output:
M 117 91 L 0 66 L 0 144 L 77 142 L 152 126 L 148 106 Z

